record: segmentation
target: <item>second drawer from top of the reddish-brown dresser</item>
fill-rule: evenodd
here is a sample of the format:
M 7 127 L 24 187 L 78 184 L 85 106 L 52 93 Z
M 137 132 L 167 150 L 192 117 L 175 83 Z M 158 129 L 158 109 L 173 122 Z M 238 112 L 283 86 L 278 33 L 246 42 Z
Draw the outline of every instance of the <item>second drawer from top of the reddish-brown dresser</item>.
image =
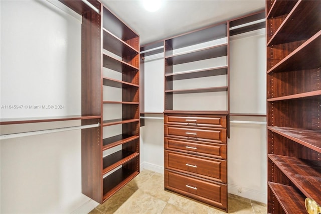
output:
M 226 144 L 227 142 L 226 129 L 202 129 L 198 127 L 164 125 L 164 135 L 165 137 L 183 138 L 187 140 L 197 141 L 208 141 L 213 143 Z

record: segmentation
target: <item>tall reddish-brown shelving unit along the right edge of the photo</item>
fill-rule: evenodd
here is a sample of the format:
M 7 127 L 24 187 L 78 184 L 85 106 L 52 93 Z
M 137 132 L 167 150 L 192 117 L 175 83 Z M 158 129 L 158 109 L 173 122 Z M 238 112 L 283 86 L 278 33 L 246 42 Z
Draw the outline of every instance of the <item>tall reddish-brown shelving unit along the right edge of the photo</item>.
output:
M 321 2 L 267 1 L 268 212 L 321 204 Z

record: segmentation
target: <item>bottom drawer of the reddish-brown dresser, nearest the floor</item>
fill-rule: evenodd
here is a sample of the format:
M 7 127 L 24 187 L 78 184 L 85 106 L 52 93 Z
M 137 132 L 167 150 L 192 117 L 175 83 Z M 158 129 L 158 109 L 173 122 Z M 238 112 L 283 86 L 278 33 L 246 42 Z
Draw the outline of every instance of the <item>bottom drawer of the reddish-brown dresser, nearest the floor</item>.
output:
M 165 188 L 227 210 L 227 185 L 165 170 Z

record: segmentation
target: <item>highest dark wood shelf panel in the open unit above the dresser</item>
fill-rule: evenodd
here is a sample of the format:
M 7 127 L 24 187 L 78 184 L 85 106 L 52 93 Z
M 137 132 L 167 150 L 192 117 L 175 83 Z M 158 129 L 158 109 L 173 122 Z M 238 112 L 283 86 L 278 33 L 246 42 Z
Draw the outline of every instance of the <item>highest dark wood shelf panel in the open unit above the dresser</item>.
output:
M 227 37 L 226 22 L 170 38 L 166 40 L 166 43 L 171 46 L 172 49 L 179 49 L 224 37 Z

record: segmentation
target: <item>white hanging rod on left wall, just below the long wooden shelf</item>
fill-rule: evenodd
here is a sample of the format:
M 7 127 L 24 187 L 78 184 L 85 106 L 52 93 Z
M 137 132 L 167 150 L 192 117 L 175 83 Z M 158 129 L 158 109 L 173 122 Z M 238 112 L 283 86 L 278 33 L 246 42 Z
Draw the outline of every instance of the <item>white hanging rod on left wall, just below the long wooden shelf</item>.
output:
M 64 128 L 56 128 L 56 129 L 45 129 L 45 130 L 30 131 L 30 132 L 4 134 L 4 135 L 0 135 L 0 140 L 55 133 L 55 132 L 64 132 L 64 131 L 77 130 L 77 129 L 88 129 L 88 128 L 94 128 L 99 126 L 100 124 L 97 123 L 97 124 L 90 124 L 90 125 L 83 125 L 83 126 L 72 126 L 72 127 L 64 127 Z

